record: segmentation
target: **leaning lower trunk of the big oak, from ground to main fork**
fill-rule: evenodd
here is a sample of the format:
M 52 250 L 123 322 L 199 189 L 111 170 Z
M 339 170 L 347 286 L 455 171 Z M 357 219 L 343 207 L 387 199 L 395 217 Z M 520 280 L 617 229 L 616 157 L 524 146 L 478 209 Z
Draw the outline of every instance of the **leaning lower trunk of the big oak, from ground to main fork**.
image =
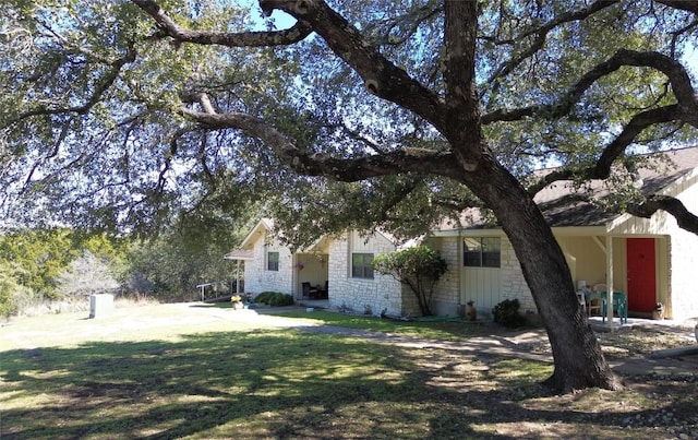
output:
M 494 211 L 521 264 L 553 350 L 555 370 L 547 384 L 563 392 L 619 389 L 579 307 L 562 249 L 538 206 L 493 160 L 481 162 L 479 173 L 468 174 L 468 185 Z

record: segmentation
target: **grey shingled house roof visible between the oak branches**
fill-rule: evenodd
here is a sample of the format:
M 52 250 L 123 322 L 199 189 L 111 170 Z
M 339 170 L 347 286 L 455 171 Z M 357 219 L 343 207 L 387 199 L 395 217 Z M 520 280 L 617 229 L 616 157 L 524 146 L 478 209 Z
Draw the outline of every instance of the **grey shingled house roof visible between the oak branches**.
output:
M 698 147 L 648 154 L 645 158 L 647 164 L 638 169 L 639 179 L 635 181 L 641 185 L 638 190 L 646 197 L 664 192 L 673 183 L 698 173 Z M 669 163 L 664 160 L 669 160 Z M 540 170 L 538 174 L 544 175 L 553 170 L 554 168 Z M 579 190 L 571 180 L 558 180 L 541 190 L 533 200 L 552 227 L 604 226 L 621 214 L 603 211 L 587 200 L 602 200 L 610 194 L 609 185 L 601 179 L 591 180 L 585 185 L 583 189 Z M 442 222 L 437 230 L 488 229 L 492 227 L 495 227 L 495 223 L 484 218 L 479 209 L 470 209 L 461 213 L 460 225 L 453 219 L 447 219 Z

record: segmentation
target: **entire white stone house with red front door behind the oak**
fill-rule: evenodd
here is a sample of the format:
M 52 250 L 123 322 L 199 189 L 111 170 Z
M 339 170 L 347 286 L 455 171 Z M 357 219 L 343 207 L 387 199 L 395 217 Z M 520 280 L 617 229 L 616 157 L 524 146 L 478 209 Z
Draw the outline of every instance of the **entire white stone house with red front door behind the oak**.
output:
M 646 194 L 675 197 L 689 211 L 698 212 L 698 147 L 675 150 L 666 157 L 670 164 L 657 162 L 655 167 L 640 169 L 635 176 L 637 186 Z M 576 285 L 606 284 L 626 293 L 631 316 L 650 317 L 657 302 L 662 302 L 667 318 L 698 317 L 698 286 L 693 281 L 698 236 L 681 229 L 662 211 L 650 218 L 606 213 L 570 197 L 573 188 L 569 181 L 557 181 L 539 192 L 535 201 Z M 590 182 L 588 190 L 595 198 L 610 195 L 602 181 Z M 332 309 L 418 313 L 408 290 L 371 269 L 375 254 L 400 247 L 389 235 L 347 231 L 291 252 L 275 234 L 273 222 L 263 219 L 243 240 L 241 249 L 253 254 L 244 265 L 245 292 L 282 292 L 302 301 L 302 283 L 322 288 L 327 282 Z M 444 222 L 425 240 L 449 267 L 434 293 L 436 314 L 456 316 L 461 305 L 472 300 L 479 317 L 490 319 L 496 304 L 514 298 L 522 311 L 535 312 L 510 242 L 501 228 L 489 225 L 477 212 L 465 213 L 459 224 Z

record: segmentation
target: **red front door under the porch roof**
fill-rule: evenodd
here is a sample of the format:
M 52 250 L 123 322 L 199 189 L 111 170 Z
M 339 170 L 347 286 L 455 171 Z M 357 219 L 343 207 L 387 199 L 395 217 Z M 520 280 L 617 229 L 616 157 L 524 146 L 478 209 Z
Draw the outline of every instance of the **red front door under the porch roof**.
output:
M 651 312 L 657 305 L 653 238 L 627 239 L 628 310 Z

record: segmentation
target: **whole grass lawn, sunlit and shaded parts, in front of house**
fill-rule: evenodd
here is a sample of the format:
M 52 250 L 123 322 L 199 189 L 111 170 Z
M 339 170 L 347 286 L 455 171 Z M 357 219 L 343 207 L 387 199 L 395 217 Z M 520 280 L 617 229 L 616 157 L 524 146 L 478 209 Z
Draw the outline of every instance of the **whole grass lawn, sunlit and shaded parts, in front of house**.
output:
M 422 335 L 471 328 L 308 314 Z M 694 383 L 550 396 L 538 385 L 549 364 L 273 329 L 264 318 L 157 306 L 11 322 L 0 328 L 0 437 L 649 438 L 654 428 L 623 420 L 693 415 Z

